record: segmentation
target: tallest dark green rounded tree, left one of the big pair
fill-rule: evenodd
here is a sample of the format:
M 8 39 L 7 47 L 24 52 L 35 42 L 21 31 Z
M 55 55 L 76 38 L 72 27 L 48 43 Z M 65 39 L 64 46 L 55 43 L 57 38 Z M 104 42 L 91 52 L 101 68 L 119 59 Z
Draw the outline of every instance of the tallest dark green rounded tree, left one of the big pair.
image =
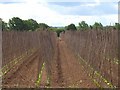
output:
M 24 30 L 24 22 L 19 17 L 13 17 L 8 22 L 9 28 L 11 30 L 23 31 Z

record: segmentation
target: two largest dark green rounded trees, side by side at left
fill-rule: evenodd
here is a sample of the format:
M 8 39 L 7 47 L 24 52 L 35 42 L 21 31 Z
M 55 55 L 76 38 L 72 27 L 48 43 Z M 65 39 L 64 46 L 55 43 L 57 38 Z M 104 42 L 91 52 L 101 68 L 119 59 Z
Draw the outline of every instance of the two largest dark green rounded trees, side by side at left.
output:
M 13 17 L 12 19 L 10 19 L 8 24 L 9 24 L 9 29 L 17 30 L 17 31 L 25 31 L 25 30 L 34 31 L 39 27 L 37 21 L 33 19 L 22 20 L 18 17 Z

